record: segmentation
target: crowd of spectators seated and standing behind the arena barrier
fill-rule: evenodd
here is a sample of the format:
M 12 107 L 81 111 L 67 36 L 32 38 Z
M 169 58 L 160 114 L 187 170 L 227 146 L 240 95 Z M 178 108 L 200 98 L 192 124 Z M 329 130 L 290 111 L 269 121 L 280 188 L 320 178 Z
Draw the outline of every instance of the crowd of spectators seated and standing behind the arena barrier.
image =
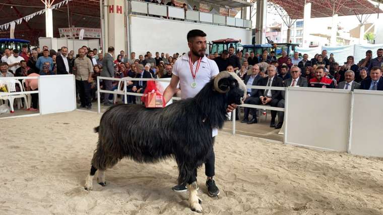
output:
M 6 49 L 0 64 L 1 76 L 28 76 L 51 74 L 75 74 L 79 103 L 82 107 L 91 109 L 92 101 L 96 99 L 97 76 L 104 77 L 132 77 L 132 78 L 171 78 L 172 66 L 180 57 L 179 53 L 151 52 L 136 56 L 135 52 L 127 55 L 123 50 L 117 54 L 113 47 L 103 54 L 97 49 L 83 46 L 77 51 L 69 51 L 67 47 L 49 50 L 47 46 L 35 48 L 28 52 L 23 50 Z M 183 53 L 184 54 L 184 53 Z M 182 54 L 182 55 L 183 55 Z M 278 59 L 275 53 L 264 50 L 261 55 L 254 52 L 239 52 L 233 47 L 223 50 L 219 55 L 207 55 L 213 59 L 220 71 L 235 72 L 246 85 L 263 86 L 303 86 L 322 88 L 343 88 L 348 90 L 369 89 L 383 90 L 382 69 L 383 49 L 377 50 L 377 57 L 372 58 L 372 51 L 366 51 L 366 57 L 357 64 L 353 56 L 348 56 L 346 62 L 338 63 L 336 56 L 323 50 L 309 59 L 307 54 L 302 58 L 298 52 L 289 57 L 285 51 Z M 343 59 L 338 59 L 343 60 Z M 142 93 L 145 81 L 128 81 L 127 91 Z M 118 81 L 102 80 L 100 87 L 106 90 L 118 88 Z M 104 94 L 103 103 L 112 104 L 112 95 Z M 136 96 L 127 96 L 127 102 L 136 103 Z M 245 103 L 268 104 L 284 107 L 284 93 L 280 90 L 247 89 Z M 36 107 L 34 105 L 33 107 Z M 238 112 L 237 112 L 238 113 Z M 252 119 L 249 119 L 249 115 Z M 275 123 L 276 111 L 271 112 L 271 127 L 280 128 L 283 123 L 283 113 L 278 113 L 278 124 Z M 244 109 L 242 123 L 257 123 L 257 111 Z M 237 120 L 239 116 L 237 116 Z

